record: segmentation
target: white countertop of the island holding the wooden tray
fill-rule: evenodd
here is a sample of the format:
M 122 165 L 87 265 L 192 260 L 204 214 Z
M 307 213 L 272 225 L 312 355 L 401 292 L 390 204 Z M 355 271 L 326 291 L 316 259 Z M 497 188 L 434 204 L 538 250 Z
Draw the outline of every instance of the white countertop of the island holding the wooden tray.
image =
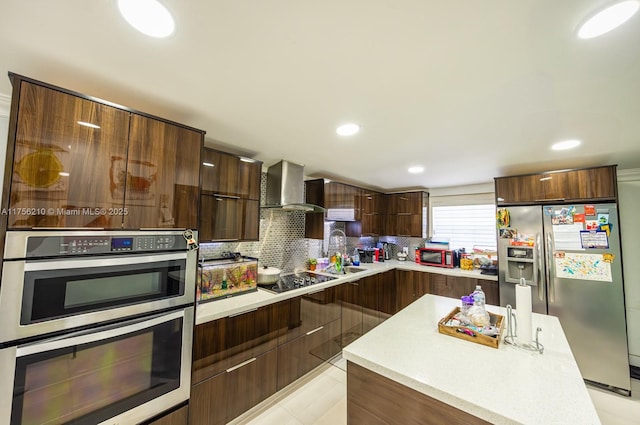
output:
M 556 317 L 533 315 L 544 354 L 503 341 L 495 349 L 438 332 L 458 304 L 425 295 L 345 347 L 343 358 L 494 424 L 600 424 Z

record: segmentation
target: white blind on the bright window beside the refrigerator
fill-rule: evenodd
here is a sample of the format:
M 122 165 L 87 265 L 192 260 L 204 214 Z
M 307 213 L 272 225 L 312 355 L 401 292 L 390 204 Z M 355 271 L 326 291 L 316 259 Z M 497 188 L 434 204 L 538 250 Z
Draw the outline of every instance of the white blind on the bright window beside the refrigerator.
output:
M 493 193 L 431 199 L 432 237 L 451 249 L 495 248 L 496 206 Z

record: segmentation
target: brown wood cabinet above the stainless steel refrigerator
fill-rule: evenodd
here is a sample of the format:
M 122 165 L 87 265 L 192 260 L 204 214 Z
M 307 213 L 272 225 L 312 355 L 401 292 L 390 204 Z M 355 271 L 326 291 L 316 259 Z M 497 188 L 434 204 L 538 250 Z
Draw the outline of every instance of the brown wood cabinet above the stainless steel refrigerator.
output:
M 616 166 L 496 177 L 497 205 L 615 201 Z

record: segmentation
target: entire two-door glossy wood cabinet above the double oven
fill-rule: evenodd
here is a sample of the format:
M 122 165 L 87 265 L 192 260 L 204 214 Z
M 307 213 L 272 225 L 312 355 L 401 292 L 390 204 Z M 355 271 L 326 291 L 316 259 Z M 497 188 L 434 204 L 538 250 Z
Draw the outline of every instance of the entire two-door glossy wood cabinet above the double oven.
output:
M 7 229 L 196 228 L 203 131 L 10 78 Z

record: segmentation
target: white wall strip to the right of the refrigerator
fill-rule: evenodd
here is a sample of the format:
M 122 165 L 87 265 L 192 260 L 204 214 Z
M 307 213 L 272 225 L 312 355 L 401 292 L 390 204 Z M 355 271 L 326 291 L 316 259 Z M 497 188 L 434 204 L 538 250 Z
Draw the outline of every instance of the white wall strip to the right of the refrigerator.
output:
M 640 367 L 640 170 L 618 171 L 629 363 Z

